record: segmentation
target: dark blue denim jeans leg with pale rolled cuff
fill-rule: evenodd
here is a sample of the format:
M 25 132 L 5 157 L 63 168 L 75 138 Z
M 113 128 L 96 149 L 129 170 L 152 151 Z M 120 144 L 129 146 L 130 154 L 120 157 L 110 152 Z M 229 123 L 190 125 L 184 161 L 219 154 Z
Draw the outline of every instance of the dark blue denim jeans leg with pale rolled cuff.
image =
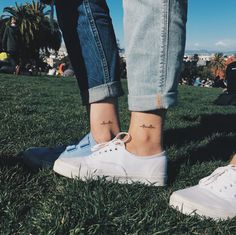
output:
M 56 0 L 61 27 L 83 103 L 123 94 L 116 38 L 105 0 Z

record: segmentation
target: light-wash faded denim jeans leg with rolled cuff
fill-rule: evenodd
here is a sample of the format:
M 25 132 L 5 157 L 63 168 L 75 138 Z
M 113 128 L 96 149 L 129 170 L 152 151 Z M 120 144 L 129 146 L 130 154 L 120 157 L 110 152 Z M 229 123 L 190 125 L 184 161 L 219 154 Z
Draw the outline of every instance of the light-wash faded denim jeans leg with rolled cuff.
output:
M 187 0 L 123 0 L 129 109 L 176 104 Z

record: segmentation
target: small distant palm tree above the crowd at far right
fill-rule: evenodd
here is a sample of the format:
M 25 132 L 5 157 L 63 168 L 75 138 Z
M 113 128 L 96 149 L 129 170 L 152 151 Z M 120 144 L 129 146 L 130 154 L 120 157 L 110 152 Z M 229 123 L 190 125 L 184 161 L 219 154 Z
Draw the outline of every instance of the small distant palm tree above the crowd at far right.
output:
M 213 70 L 214 76 L 224 76 L 225 73 L 225 59 L 223 53 L 215 53 L 211 60 L 209 67 Z

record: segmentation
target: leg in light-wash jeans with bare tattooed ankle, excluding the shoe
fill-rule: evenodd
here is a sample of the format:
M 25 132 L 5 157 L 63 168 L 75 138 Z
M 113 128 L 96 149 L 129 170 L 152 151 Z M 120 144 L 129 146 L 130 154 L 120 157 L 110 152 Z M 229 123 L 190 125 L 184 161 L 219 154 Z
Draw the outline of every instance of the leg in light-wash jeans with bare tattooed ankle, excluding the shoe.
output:
M 176 103 L 184 53 L 186 6 L 185 0 L 124 1 L 132 111 L 127 149 L 137 155 L 163 151 L 165 113 Z

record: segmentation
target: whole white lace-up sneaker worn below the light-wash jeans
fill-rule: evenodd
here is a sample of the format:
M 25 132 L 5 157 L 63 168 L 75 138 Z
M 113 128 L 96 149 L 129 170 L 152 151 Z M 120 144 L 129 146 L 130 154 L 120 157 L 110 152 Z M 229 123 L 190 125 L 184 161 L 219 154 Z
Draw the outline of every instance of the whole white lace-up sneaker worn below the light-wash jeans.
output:
M 121 139 L 121 136 L 125 138 Z M 128 133 L 119 133 L 112 141 L 95 145 L 87 157 L 59 158 L 54 171 L 69 178 L 82 180 L 105 176 L 120 183 L 141 182 L 164 186 L 167 179 L 167 157 L 162 152 L 138 157 L 125 149 Z

